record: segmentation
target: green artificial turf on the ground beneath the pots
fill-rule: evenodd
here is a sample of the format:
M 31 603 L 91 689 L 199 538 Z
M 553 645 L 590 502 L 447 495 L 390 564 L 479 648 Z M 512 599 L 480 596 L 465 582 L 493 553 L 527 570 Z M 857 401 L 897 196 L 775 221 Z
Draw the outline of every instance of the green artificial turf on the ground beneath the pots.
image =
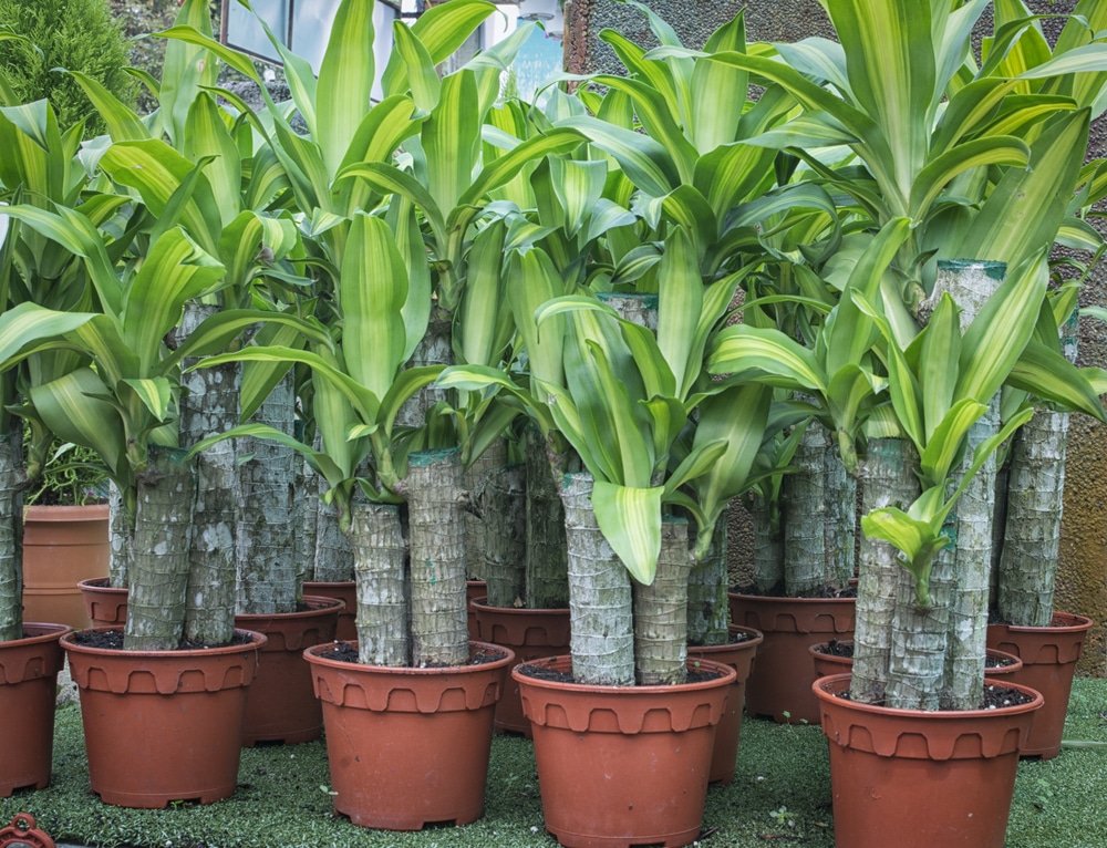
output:
M 1107 681 L 1076 681 L 1065 735 L 1107 743 Z M 54 839 L 111 848 L 556 845 L 542 827 L 531 744 L 519 737 L 493 743 L 485 816 L 465 827 L 393 834 L 365 830 L 335 816 L 322 742 L 244 749 L 239 780 L 234 797 L 206 806 L 132 810 L 101 804 L 89 792 L 81 714 L 71 704 L 58 712 L 51 786 L 0 799 L 0 826 L 25 811 Z M 1107 747 L 1065 748 L 1048 762 L 1024 762 L 1006 848 L 1103 848 L 1105 802 Z M 704 827 L 710 831 L 699 842 L 704 848 L 831 848 L 827 749 L 819 730 L 745 720 L 734 782 L 708 790 Z

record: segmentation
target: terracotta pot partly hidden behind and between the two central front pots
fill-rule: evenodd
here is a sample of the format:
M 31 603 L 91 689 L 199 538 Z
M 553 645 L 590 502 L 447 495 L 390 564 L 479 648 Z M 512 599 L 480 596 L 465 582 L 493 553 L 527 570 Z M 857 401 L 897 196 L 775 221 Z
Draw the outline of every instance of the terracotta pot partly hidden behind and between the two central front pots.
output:
M 528 610 L 489 607 L 487 598 L 477 598 L 469 609 L 476 613 L 477 639 L 509 648 L 515 653 L 514 669 L 520 662 L 552 656 L 569 649 L 569 609 Z M 496 730 L 521 733 L 530 738 L 530 722 L 523 714 L 519 686 L 514 679 L 505 684 L 496 704 Z

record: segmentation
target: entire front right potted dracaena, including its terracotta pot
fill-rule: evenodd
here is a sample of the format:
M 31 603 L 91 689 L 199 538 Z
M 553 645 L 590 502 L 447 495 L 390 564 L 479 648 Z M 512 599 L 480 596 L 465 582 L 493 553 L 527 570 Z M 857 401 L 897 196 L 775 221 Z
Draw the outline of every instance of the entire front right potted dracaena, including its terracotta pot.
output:
M 824 130 L 837 125 L 845 131 L 837 142 L 850 147 L 863 163 L 860 175 L 826 167 L 814 154 L 796 149 L 820 178 L 847 190 L 861 214 L 871 216 L 873 225 L 879 225 L 870 230 L 877 239 L 897 226 L 897 216 L 912 223 L 912 230 L 896 244 L 897 255 L 886 259 L 894 260 L 892 267 L 904 285 L 881 282 L 868 291 L 846 291 L 837 307 L 836 320 L 849 328 L 849 335 L 865 345 L 876 344 L 881 364 L 875 373 L 887 380 L 889 402 L 881 403 L 868 418 L 868 442 L 860 463 L 867 515 L 862 519 L 866 538 L 861 545 L 852 683 L 839 676 L 825 679 L 816 687 L 824 704 L 824 728 L 831 740 L 836 830 L 846 844 L 877 845 L 884 838 L 875 835 L 879 828 L 886 833 L 888 827 L 903 826 L 907 807 L 902 803 L 889 802 L 887 807 L 880 803 L 851 804 L 850 799 L 861 795 L 850 787 L 850 778 L 857 777 L 852 769 L 869 762 L 881 769 L 880 777 L 862 779 L 879 780 L 882 798 L 893 797 L 897 786 L 911 794 L 909 806 L 919 818 L 912 819 L 908 830 L 919 835 L 920 845 L 956 838 L 965 845 L 999 846 L 1003 844 L 1010 794 L 993 803 L 995 815 L 990 819 L 977 815 L 983 806 L 969 794 L 943 796 L 934 807 L 919 805 L 918 773 L 900 783 L 901 778 L 889 771 L 894 746 L 872 735 L 873 747 L 862 753 L 857 728 L 868 718 L 892 728 L 902 717 L 913 722 L 910 733 L 921 733 L 925 724 L 920 722 L 949 724 L 958 710 L 974 722 L 986 721 L 987 713 L 980 707 L 990 556 L 981 548 L 991 540 L 985 506 L 992 490 L 989 463 L 1002 439 L 1027 416 L 1008 416 L 1003 428 L 999 427 L 992 399 L 1001 384 L 1006 381 L 1039 399 L 1103 415 L 1086 379 L 1057 351 L 1055 319 L 1042 308 L 1047 279 L 1044 257 L 1078 184 L 1088 114 L 1077 103 L 1075 111 L 1047 116 L 1039 126 L 1032 122 L 1033 132 L 1022 124 L 1011 136 L 996 135 L 999 127 L 987 124 L 968 135 L 962 131 L 971 124 L 964 123 L 958 124 L 956 133 L 943 132 L 953 130 L 948 122 L 965 114 L 961 106 L 980 103 L 985 90 L 1002 95 L 1017 84 L 1007 79 L 1006 60 L 1021 50 L 1015 44 L 1026 21 L 997 33 L 1000 50 L 990 53 L 973 84 L 958 82 L 945 108 L 941 104 L 946 85 L 960 66 L 954 56 L 966 49 L 973 14 L 945 18 L 934 11 L 931 17 L 928 4 L 912 3 L 910 9 L 904 4 L 880 18 L 879 25 L 866 27 L 862 19 L 876 20 L 869 4 L 831 2 L 828 10 L 844 49 L 809 41 L 782 49 L 786 63 L 738 54 L 721 61 L 779 82 L 807 106 L 807 117 L 783 127 L 776 142 L 795 130 L 790 138 L 801 145 L 800 137 L 809 137 L 806 122 L 810 120 Z M 943 40 L 937 40 L 935 32 L 942 32 Z M 863 56 L 887 58 L 890 44 L 903 51 L 904 62 L 892 63 L 901 72 L 888 73 L 887 66 L 872 72 Z M 906 60 L 908 52 L 910 61 Z M 834 61 L 835 55 L 850 58 L 835 65 L 840 71 L 834 80 L 837 93 L 796 71 L 810 72 L 815 56 Z M 1014 59 L 1012 62 L 1017 64 Z M 1044 79 L 1064 75 L 1074 65 L 1095 70 L 1101 62 L 1100 51 L 1092 45 L 1023 73 L 1025 79 Z M 1010 75 L 1016 73 L 1011 71 Z M 825 79 L 823 73 L 816 76 Z M 913 104 L 907 106 L 910 118 L 893 114 L 904 104 Z M 878 138 L 880 133 L 887 135 Z M 940 145 L 931 146 L 938 141 Z M 986 161 L 995 164 L 996 180 L 975 184 L 980 205 L 966 208 L 955 200 L 945 206 L 941 198 L 949 199 L 950 190 L 966 186 L 966 169 Z M 1032 167 L 1025 168 L 1024 163 Z M 932 206 L 934 200 L 939 206 Z M 1031 210 L 1025 217 L 1021 214 Z M 1020 221 L 1026 226 L 1018 226 Z M 1007 260 L 1006 278 L 997 285 L 1003 271 L 987 263 L 939 263 L 932 287 L 930 248 L 938 248 L 939 259 L 959 255 L 1003 258 Z M 923 309 L 918 309 L 923 303 Z M 915 323 L 912 308 L 924 319 L 929 317 L 924 327 Z M 1035 333 L 1039 318 L 1045 329 Z M 727 370 L 733 365 L 733 361 L 727 362 Z M 884 392 L 882 386 L 875 387 Z M 985 422 L 990 418 L 989 430 Z M 959 449 L 963 458 L 958 456 Z M 912 468 L 919 474 L 915 478 Z M 985 511 L 976 511 L 981 507 Z M 946 519 L 949 530 L 943 529 Z M 975 527 L 971 520 L 977 521 Z M 955 631 L 950 630 L 951 622 L 955 622 Z M 850 690 L 849 701 L 834 697 L 845 687 Z M 963 768 L 970 783 L 986 783 L 1010 793 L 1018 743 L 1000 741 L 1024 740 L 1028 711 L 1039 704 L 1033 695 L 1023 706 L 990 711 L 996 714 L 1000 726 L 997 735 L 980 736 L 982 759 L 962 765 L 963 755 L 955 753 L 956 743 L 951 741 L 934 743 L 933 764 L 913 768 L 941 769 L 949 780 Z M 857 712 L 844 715 L 851 705 Z M 999 716 L 1012 724 L 1003 725 Z M 868 733 L 877 734 L 877 724 L 870 727 Z M 970 732 L 983 733 L 979 726 Z M 991 769 L 990 777 L 983 777 L 984 768 Z M 871 823 L 877 829 L 869 835 L 865 824 Z

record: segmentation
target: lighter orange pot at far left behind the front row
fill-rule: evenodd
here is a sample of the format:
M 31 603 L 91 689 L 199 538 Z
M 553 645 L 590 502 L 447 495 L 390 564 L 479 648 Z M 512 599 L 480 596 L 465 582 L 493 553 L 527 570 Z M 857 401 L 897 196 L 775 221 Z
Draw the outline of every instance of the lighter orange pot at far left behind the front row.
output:
M 23 510 L 23 618 L 92 625 L 77 582 L 107 577 L 107 504 Z

